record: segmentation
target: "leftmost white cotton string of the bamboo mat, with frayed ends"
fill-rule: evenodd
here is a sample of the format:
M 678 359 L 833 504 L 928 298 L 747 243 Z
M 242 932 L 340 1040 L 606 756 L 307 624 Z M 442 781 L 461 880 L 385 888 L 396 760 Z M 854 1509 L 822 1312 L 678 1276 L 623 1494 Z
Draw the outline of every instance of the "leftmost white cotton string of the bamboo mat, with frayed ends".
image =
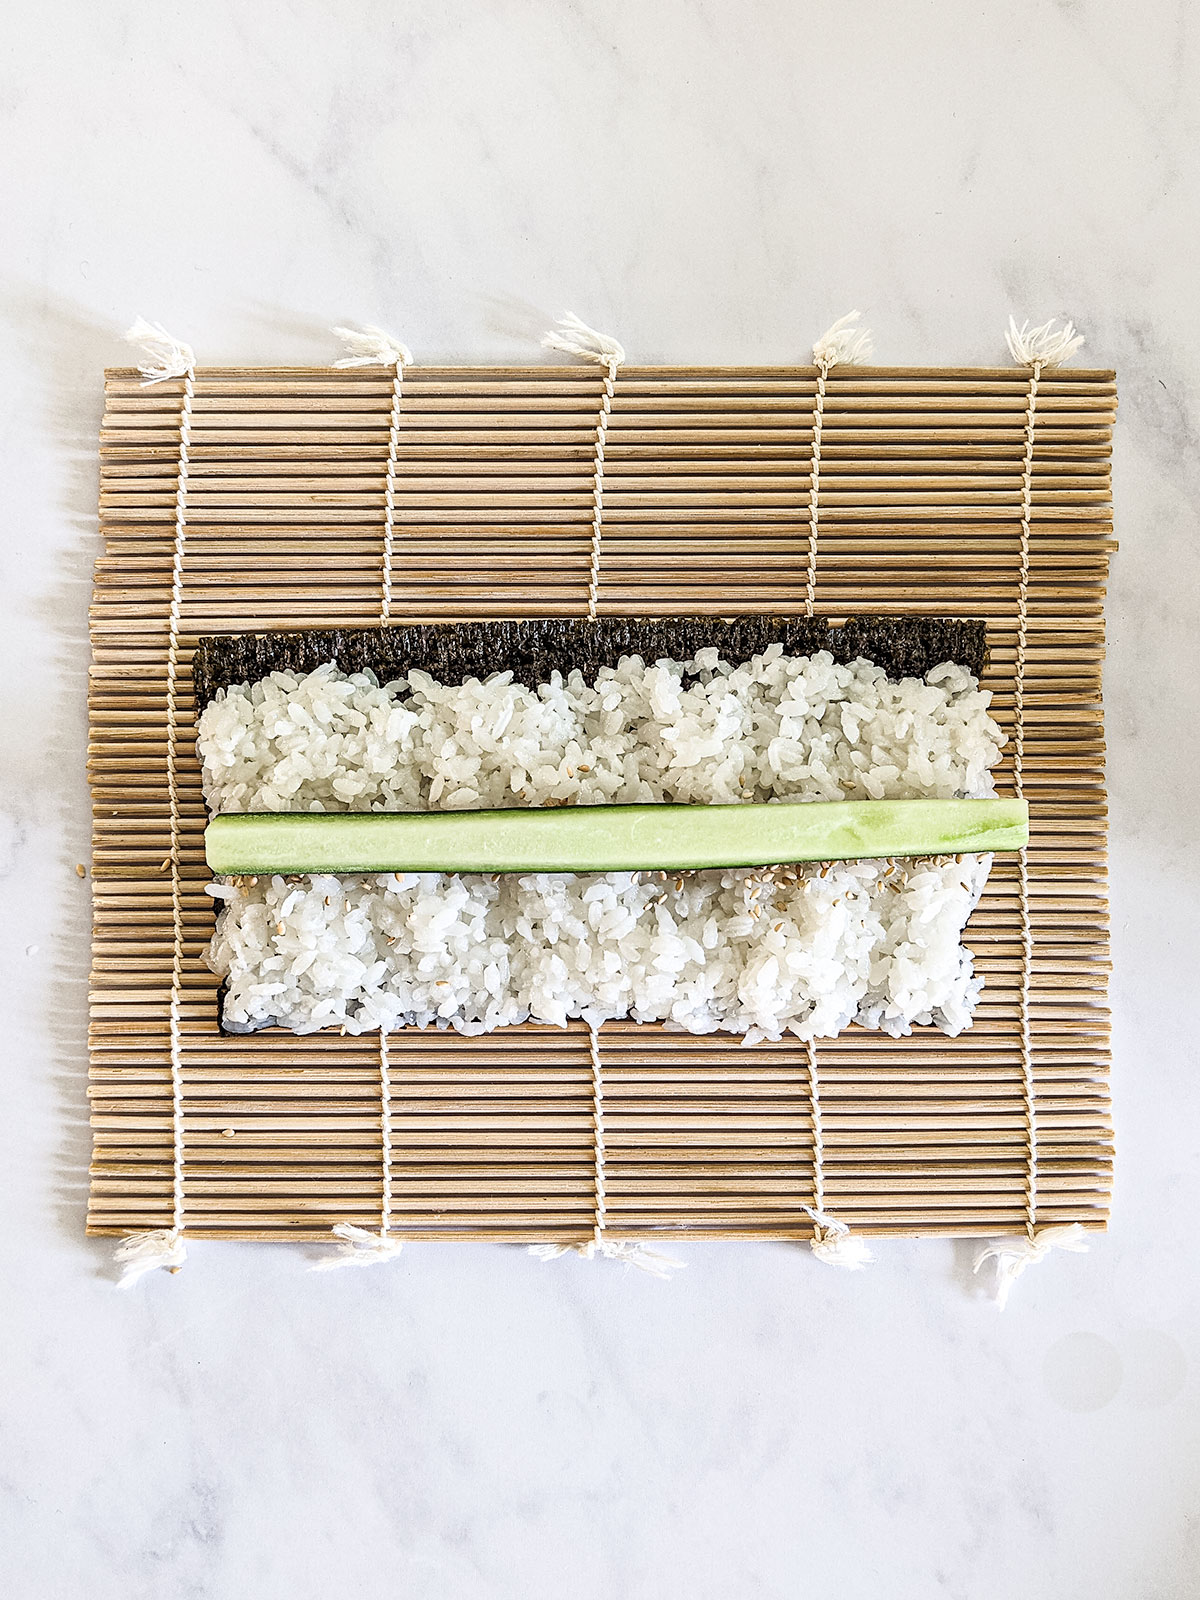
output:
M 187 1259 L 184 1248 L 184 1062 L 181 1037 L 181 990 L 184 976 L 184 909 L 179 862 L 179 619 L 184 594 L 184 544 L 187 536 L 187 470 L 192 451 L 192 405 L 195 402 L 195 352 L 174 339 L 160 323 L 139 317 L 126 339 L 141 344 L 147 360 L 138 368 L 146 386 L 182 378 L 179 402 L 179 462 L 174 490 L 174 550 L 171 557 L 171 605 L 166 618 L 166 800 L 171 822 L 171 1000 L 168 1011 L 171 1058 L 171 1226 L 130 1234 L 117 1246 L 115 1261 L 123 1267 L 120 1288 L 136 1283 L 154 1267 L 178 1272 Z

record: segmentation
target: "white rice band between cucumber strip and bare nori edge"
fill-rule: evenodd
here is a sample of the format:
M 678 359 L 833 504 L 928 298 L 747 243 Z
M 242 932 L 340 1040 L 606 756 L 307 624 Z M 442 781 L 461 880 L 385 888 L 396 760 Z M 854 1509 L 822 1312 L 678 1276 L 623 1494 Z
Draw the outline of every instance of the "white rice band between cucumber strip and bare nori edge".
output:
M 950 662 L 896 683 L 778 645 L 738 667 L 630 658 L 536 691 L 326 666 L 219 694 L 197 750 L 213 811 L 981 798 L 1002 744 L 989 701 Z

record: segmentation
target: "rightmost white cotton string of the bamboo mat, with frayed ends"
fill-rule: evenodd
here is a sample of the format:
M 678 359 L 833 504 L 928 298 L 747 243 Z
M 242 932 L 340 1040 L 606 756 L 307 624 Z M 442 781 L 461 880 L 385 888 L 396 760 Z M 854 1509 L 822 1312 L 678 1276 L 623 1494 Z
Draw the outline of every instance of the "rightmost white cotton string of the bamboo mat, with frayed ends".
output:
M 1034 440 L 1037 432 L 1037 397 L 1042 371 L 1059 366 L 1083 344 L 1072 323 L 1056 328 L 1045 322 L 1038 328 L 1008 318 L 1005 334 L 1014 362 L 1029 366 L 1029 394 L 1026 400 L 1026 451 L 1021 469 L 1021 568 L 1016 600 L 1016 677 L 1013 685 L 1013 789 L 1024 797 L 1026 754 L 1026 653 L 1029 645 L 1029 570 L 1034 520 Z M 1038 1227 L 1038 1126 L 1037 1126 L 1037 1075 L 1034 1070 L 1032 982 L 1034 982 L 1034 925 L 1029 915 L 1029 858 L 1018 851 L 1018 915 L 1021 920 L 1021 984 L 1018 990 L 1018 1024 L 1021 1038 L 1021 1094 L 1026 1115 L 1026 1237 L 1014 1243 L 1000 1243 L 979 1251 L 974 1270 L 987 1261 L 997 1262 L 995 1302 L 1000 1309 L 1008 1293 L 1027 1266 L 1045 1259 L 1054 1246 L 1062 1250 L 1086 1250 L 1083 1229 L 1078 1224 Z

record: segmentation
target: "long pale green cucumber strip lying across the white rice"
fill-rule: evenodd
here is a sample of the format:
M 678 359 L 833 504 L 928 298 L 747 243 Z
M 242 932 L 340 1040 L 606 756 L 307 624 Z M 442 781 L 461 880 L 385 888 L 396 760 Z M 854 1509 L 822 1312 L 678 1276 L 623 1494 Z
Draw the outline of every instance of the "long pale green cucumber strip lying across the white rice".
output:
M 1021 850 L 1024 800 L 226 813 L 218 877 L 248 872 L 638 872 Z

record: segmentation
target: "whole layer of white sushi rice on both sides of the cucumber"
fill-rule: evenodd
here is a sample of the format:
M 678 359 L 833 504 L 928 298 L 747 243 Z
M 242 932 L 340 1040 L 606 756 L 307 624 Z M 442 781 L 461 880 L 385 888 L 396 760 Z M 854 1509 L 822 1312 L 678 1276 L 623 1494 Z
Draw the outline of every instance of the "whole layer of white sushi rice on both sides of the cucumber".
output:
M 331 666 L 218 694 L 197 750 L 213 811 L 984 798 L 1003 736 L 962 667 L 715 651 L 536 691 L 498 674 L 379 685 Z M 630 1016 L 747 1042 L 970 1026 L 962 930 L 990 858 L 662 874 L 219 882 L 224 1022 L 480 1034 Z

